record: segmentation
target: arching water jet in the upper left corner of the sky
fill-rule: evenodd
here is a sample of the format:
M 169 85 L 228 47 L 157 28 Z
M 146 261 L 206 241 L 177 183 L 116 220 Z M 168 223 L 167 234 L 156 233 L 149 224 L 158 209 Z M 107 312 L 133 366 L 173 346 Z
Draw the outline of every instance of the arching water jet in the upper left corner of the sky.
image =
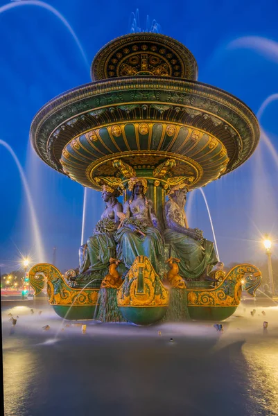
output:
M 56 17 L 58 17 L 58 19 L 60 19 L 60 21 L 62 21 L 62 24 L 64 24 L 64 26 L 66 26 L 67 30 L 69 31 L 69 33 L 71 33 L 73 39 L 76 41 L 76 44 L 80 50 L 80 53 L 82 55 L 82 58 L 85 61 L 85 64 L 89 67 L 89 62 L 87 61 L 87 57 L 85 55 L 85 52 L 78 40 L 78 37 L 76 36 L 76 33 L 73 31 L 73 28 L 71 28 L 71 25 L 69 24 L 69 22 L 67 21 L 67 19 L 64 18 L 64 16 L 62 16 L 60 14 L 60 12 L 58 12 L 58 10 L 56 10 L 55 8 L 53 8 L 53 6 L 50 6 L 47 3 L 44 3 L 44 1 L 39 1 L 39 0 L 28 0 L 28 1 L 13 1 L 12 3 L 8 3 L 5 4 L 4 6 L 0 7 L 0 14 L 3 12 L 6 12 L 12 8 L 15 7 L 19 7 L 19 6 L 38 6 L 41 8 L 44 8 L 45 10 L 49 10 L 49 12 L 53 13 L 53 15 L 55 15 Z

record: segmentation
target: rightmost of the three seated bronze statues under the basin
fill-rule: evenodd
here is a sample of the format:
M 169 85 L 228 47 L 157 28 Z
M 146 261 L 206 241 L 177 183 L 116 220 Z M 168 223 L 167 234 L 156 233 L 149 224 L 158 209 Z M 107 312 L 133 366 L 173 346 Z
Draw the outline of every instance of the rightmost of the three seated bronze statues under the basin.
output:
M 189 228 L 184 207 L 188 188 L 185 184 L 171 188 L 165 204 L 166 229 L 164 238 L 170 245 L 171 256 L 180 259 L 180 275 L 186 280 L 214 280 L 209 269 L 218 262 L 214 243 L 202 236 L 202 231 Z

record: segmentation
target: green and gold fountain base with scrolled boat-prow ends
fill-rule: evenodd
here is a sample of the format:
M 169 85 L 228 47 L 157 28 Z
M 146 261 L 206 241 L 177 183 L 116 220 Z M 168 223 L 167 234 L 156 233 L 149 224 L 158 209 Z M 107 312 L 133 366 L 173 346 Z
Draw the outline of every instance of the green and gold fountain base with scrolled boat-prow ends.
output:
M 208 285 L 207 282 L 207 287 L 204 287 L 204 282 L 196 281 L 194 285 L 188 282 L 190 287 L 170 288 L 164 286 L 164 281 L 162 283 L 159 279 L 148 257 L 143 256 L 134 260 L 119 288 L 101 288 L 101 291 L 105 291 L 102 297 L 99 288 L 87 287 L 88 284 L 83 288 L 75 288 L 74 281 L 68 281 L 57 268 L 47 263 L 37 264 L 29 271 L 35 297 L 42 292 L 44 276 L 47 279 L 49 304 L 61 318 L 99 318 L 102 322 L 126 320 L 140 325 L 153 324 L 162 318 L 168 322 L 225 320 L 240 304 L 242 287 L 254 296 L 261 284 L 258 268 L 240 264 L 229 270 L 227 275 L 222 271 L 216 272 L 219 281 L 212 284 L 215 287 L 211 288 L 211 283 Z

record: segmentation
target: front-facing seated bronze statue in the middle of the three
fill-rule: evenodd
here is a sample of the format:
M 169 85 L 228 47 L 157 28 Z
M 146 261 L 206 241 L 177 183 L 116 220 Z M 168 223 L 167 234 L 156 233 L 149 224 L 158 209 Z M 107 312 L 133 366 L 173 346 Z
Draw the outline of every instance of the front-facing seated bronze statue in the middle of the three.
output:
M 137 256 L 147 256 L 158 273 L 159 261 L 162 261 L 164 255 L 163 240 L 153 202 L 145 196 L 147 180 L 132 177 L 128 189 L 132 195 L 123 206 L 125 216 L 119 214 L 123 218 L 115 234 L 118 243 L 116 257 L 129 269 Z

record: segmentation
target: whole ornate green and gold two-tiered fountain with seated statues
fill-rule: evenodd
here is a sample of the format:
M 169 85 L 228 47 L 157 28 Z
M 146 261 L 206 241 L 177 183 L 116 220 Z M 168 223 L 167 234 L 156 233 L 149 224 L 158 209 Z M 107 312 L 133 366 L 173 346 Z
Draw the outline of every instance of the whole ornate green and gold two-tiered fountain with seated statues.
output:
M 102 191 L 106 208 L 85 244 L 82 233 L 79 270 L 63 276 L 39 263 L 30 282 L 38 295 L 45 275 L 49 302 L 67 319 L 223 320 L 243 285 L 254 295 L 261 272 L 250 264 L 223 271 L 214 243 L 187 223 L 186 193 L 243 164 L 259 125 L 242 101 L 196 80 L 184 45 L 137 32 L 104 46 L 92 83 L 53 98 L 33 119 L 40 158 Z

